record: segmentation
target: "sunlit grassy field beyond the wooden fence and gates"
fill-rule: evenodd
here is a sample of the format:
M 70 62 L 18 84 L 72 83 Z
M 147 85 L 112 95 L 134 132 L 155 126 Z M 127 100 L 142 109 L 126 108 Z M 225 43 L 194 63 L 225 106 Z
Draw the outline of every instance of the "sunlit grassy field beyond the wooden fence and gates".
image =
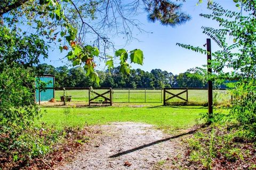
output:
M 106 90 L 94 90 L 97 93 L 106 92 Z M 182 90 L 170 90 L 174 94 L 180 93 Z M 96 96 L 91 93 L 91 98 Z M 63 95 L 63 91 L 55 91 L 55 99 L 60 100 L 60 96 Z M 74 102 L 88 102 L 88 90 L 67 90 L 66 95 L 72 96 Z M 105 96 L 109 97 L 109 94 Z M 166 94 L 166 98 L 171 95 Z M 180 95 L 186 99 L 186 93 Z M 163 91 L 161 90 L 113 90 L 113 102 L 163 102 Z M 227 103 L 231 99 L 231 96 L 227 91 L 214 90 L 213 101 L 215 104 Z M 96 101 L 102 101 L 102 98 L 98 98 Z M 173 98 L 169 102 L 183 102 L 181 99 Z M 207 104 L 207 90 L 188 90 L 188 103 L 189 105 L 205 105 Z

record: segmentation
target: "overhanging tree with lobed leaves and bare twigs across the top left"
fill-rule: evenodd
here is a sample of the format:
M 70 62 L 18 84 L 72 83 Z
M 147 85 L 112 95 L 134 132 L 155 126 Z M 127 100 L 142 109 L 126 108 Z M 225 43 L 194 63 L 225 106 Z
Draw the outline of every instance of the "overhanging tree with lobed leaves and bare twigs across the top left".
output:
M 66 57 L 73 62 L 73 66 L 83 65 L 86 75 L 99 83 L 100 79 L 94 70 L 97 66 L 94 58 L 99 56 L 109 68 L 113 67 L 113 57 L 107 56 L 106 51 L 114 46 L 106 33 L 122 34 L 130 39 L 132 27 L 143 31 L 137 20 L 130 18 L 134 16 L 130 11 L 137 13 L 141 6 L 145 7 L 151 21 L 159 20 L 164 25 L 176 26 L 190 19 L 189 15 L 181 12 L 181 5 L 168 0 L 137 0 L 128 4 L 119 0 L 4 0 L 0 3 L 0 16 L 2 22 L 18 34 L 29 35 L 19 26 L 31 25 L 44 43 L 45 40 L 59 43 L 61 51 L 69 50 Z M 16 18 L 26 18 L 28 22 Z M 119 27 L 119 23 L 123 23 L 122 27 Z M 88 42 L 87 36 L 95 37 L 95 41 Z M 98 50 L 101 46 L 102 53 Z M 120 61 L 120 71 L 123 73 L 130 71 L 126 62 L 128 59 L 134 63 L 143 63 L 143 53 L 138 49 L 129 53 L 124 49 L 118 50 L 114 58 Z

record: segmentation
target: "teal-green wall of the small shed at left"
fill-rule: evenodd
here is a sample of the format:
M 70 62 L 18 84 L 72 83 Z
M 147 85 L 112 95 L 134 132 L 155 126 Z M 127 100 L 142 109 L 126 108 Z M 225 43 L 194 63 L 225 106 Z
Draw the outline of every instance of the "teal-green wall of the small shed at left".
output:
M 36 77 L 36 87 L 37 85 L 37 79 L 40 79 L 42 82 L 45 82 L 47 85 L 46 87 L 54 87 L 54 77 L 47 77 L 47 76 L 42 76 L 42 77 Z M 49 101 L 52 98 L 54 98 L 54 90 L 53 89 L 46 89 L 41 91 L 41 102 L 42 101 Z M 39 90 L 36 89 L 36 102 L 39 102 Z

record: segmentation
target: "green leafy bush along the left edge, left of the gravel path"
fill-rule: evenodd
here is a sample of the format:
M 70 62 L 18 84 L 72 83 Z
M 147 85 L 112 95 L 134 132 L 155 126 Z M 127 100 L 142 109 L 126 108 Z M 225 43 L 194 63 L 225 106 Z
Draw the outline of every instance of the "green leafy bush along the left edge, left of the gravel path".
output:
M 41 111 L 34 103 L 35 77 L 31 70 L 13 64 L 0 73 L 0 155 L 14 161 L 47 152 L 33 127 Z

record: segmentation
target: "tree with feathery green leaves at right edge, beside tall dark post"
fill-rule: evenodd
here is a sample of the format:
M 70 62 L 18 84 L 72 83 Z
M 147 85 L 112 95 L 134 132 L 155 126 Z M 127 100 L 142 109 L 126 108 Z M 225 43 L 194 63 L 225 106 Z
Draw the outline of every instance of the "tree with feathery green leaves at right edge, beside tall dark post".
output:
M 221 50 L 212 53 L 214 59 L 210 67 L 214 74 L 207 71 L 207 79 L 215 80 L 215 83 L 223 83 L 227 80 L 237 80 L 231 83 L 231 93 L 235 96 L 231 110 L 224 117 L 228 120 L 235 118 L 237 127 L 243 129 L 246 137 L 255 139 L 256 136 L 256 2 L 253 0 L 234 0 L 239 12 L 225 10 L 217 3 L 209 6 L 212 14 L 201 14 L 202 17 L 215 20 L 220 28 L 202 27 L 203 33 L 210 36 Z M 229 42 L 233 39 L 233 43 Z M 206 54 L 200 47 L 178 44 L 196 52 Z M 225 71 L 230 68 L 231 71 Z M 195 69 L 202 72 L 202 69 Z M 212 120 L 209 120 L 212 121 Z

